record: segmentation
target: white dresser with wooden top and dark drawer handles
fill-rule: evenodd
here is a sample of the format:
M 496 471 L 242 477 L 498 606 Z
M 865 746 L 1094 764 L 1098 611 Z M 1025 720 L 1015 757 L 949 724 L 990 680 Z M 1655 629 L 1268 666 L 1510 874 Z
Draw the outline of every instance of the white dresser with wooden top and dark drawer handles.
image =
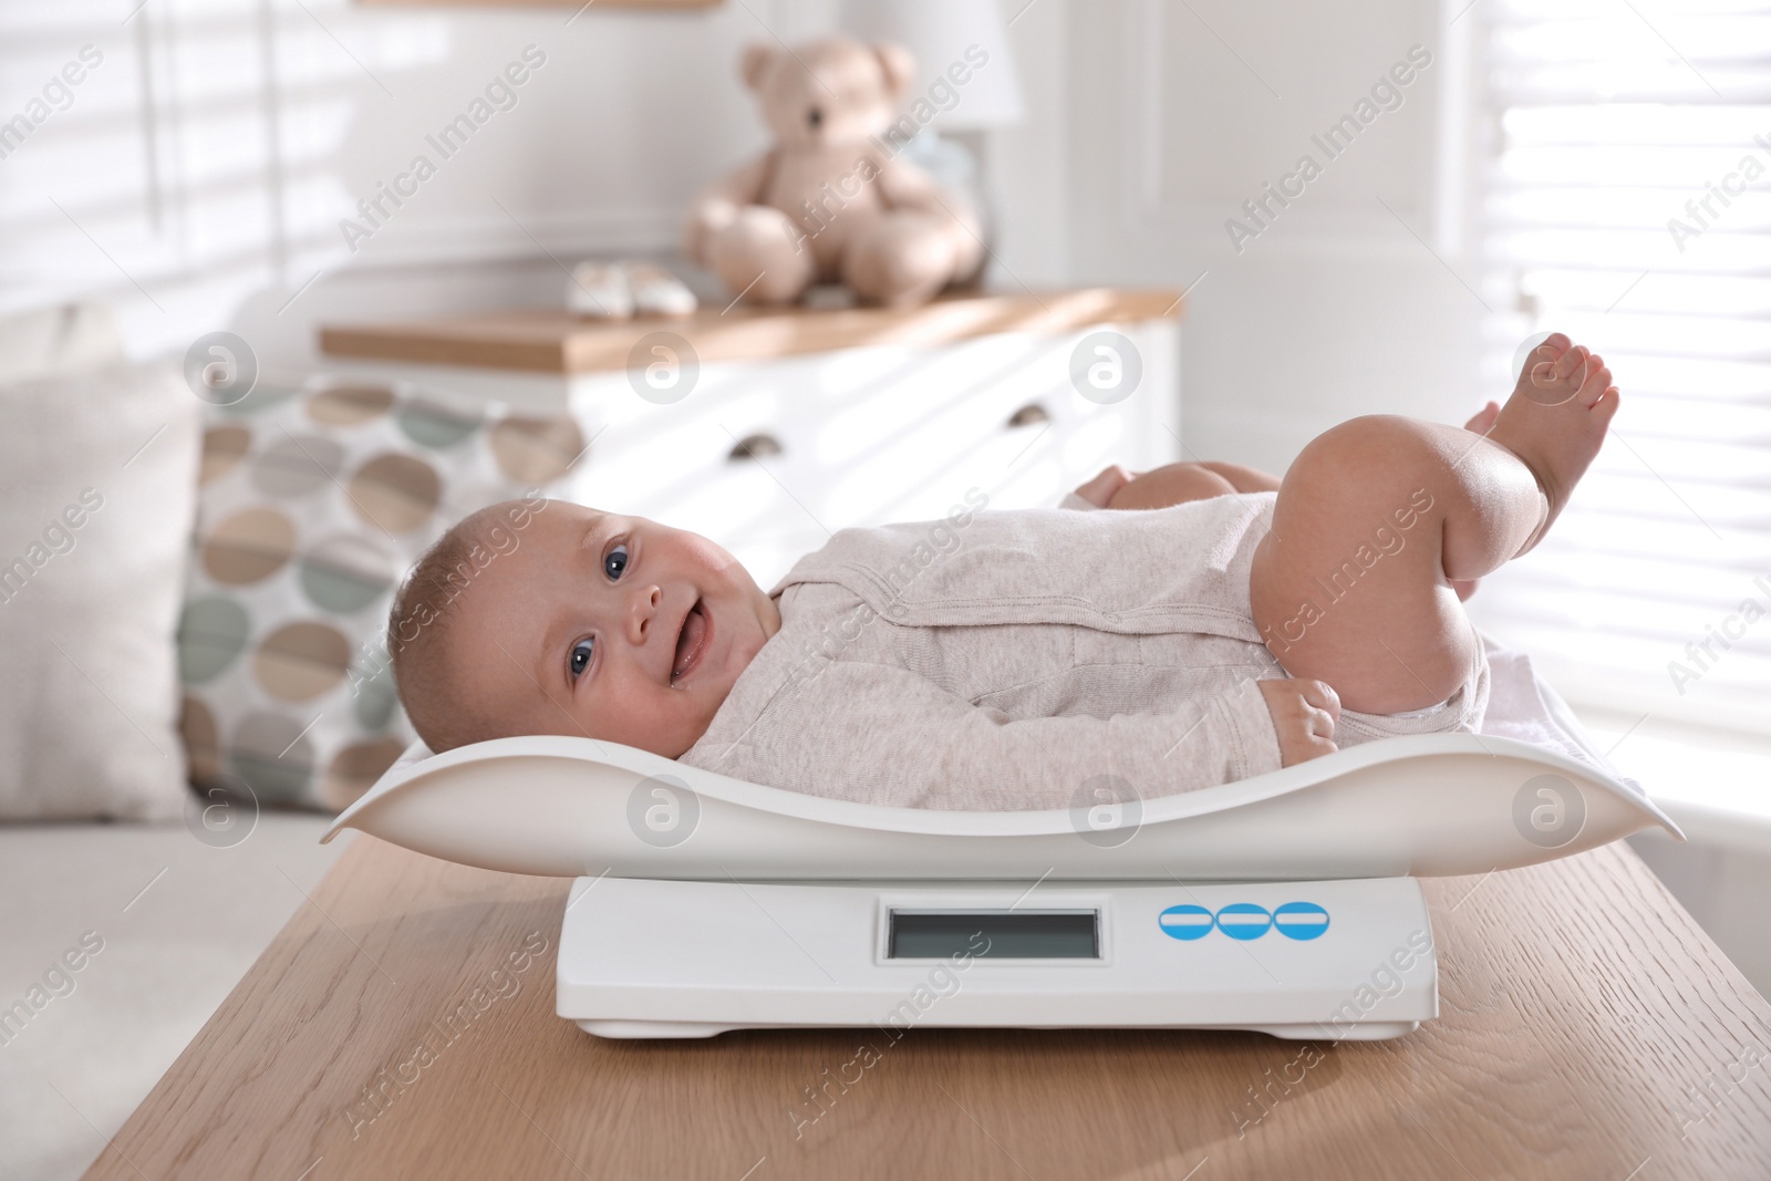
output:
M 831 531 L 1048 506 L 1181 457 L 1171 290 L 597 322 L 512 312 L 328 328 L 338 370 L 570 405 L 570 496 L 703 533 L 770 586 Z

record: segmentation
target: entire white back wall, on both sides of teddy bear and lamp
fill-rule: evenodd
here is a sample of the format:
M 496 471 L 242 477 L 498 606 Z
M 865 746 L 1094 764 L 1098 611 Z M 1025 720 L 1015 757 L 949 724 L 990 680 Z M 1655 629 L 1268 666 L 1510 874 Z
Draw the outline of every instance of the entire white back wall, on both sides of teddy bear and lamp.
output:
M 673 250 L 689 197 L 765 142 L 740 46 L 813 35 L 838 9 L 152 0 L 124 23 L 135 5 L 0 4 L 0 119 L 83 44 L 104 55 L 0 159 L 0 308 L 104 294 L 138 352 L 232 328 L 269 368 L 315 363 L 322 320 L 554 303 L 553 257 Z M 1454 41 L 1438 0 L 1002 7 L 1018 12 L 1029 113 L 988 142 L 992 280 L 1203 274 L 1183 322 L 1190 452 L 1282 469 L 1350 414 L 1473 409 L 1482 306 L 1449 269 L 1463 259 L 1440 216 Z M 530 44 L 547 60 L 515 108 L 443 159 L 427 133 Z M 1311 133 L 1411 44 L 1436 60 L 1401 108 L 1236 251 L 1226 218 L 1298 154 L 1321 156 Z M 436 177 L 352 253 L 340 220 L 420 152 Z

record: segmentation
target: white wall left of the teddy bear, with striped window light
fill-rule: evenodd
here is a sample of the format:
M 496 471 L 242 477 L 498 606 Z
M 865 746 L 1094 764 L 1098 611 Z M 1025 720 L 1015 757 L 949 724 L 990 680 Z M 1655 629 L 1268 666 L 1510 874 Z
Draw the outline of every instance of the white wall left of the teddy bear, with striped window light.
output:
M 549 255 L 675 248 L 689 197 L 763 145 L 740 46 L 827 7 L 0 2 L 0 120 L 101 55 L 0 159 L 0 310 L 104 296 L 136 352 L 234 328 L 296 365 L 324 319 L 554 303 Z M 425 136 L 526 46 L 545 64 L 445 158 Z M 436 175 L 352 250 L 340 220 L 418 154 Z

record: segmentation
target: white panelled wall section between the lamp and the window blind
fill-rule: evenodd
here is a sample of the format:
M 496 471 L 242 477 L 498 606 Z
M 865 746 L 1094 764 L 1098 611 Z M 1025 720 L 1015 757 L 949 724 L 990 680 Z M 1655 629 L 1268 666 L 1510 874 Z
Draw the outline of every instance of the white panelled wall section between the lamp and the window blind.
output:
M 1015 257 L 1029 271 L 1050 257 L 1071 282 L 1197 282 L 1181 374 L 1194 457 L 1282 471 L 1353 414 L 1463 421 L 1502 393 L 1477 374 L 1484 305 L 1443 202 L 1461 191 L 1449 163 L 1466 122 L 1442 97 L 1461 60 L 1445 19 L 1438 0 L 1040 0 L 1015 23 L 1029 53 L 1063 46 L 1063 115 L 1041 165 L 1020 165 L 1034 182 L 1002 188 L 1040 191 L 1041 166 L 1068 182 L 1052 202 L 1063 248 Z M 1433 66 L 1328 159 L 1311 135 L 1415 44 Z M 1323 174 L 1238 251 L 1226 220 L 1305 152 Z

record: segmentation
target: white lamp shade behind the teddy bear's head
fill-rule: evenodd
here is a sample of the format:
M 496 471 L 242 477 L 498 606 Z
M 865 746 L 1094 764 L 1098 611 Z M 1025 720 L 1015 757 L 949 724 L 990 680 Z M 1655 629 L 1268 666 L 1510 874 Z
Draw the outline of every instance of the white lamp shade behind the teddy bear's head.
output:
M 916 83 L 905 103 L 928 97 L 939 112 L 933 126 L 983 131 L 1020 122 L 1020 80 L 997 0 L 847 0 L 843 27 L 861 41 L 891 41 L 916 57 Z M 986 55 L 983 66 L 976 66 L 979 51 Z M 955 64 L 963 83 L 947 74 Z M 930 94 L 937 80 L 956 97 L 946 89 Z

